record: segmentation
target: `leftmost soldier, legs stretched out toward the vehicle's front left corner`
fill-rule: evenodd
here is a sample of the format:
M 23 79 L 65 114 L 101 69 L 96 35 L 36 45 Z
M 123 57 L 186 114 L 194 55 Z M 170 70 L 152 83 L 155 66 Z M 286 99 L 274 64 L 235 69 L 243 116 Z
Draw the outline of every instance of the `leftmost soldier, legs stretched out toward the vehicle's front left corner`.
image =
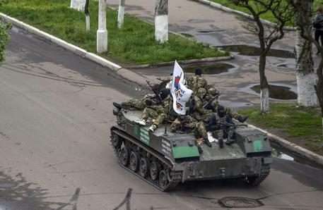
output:
M 158 87 L 159 85 L 153 85 L 153 89 L 155 89 L 155 91 L 158 91 Z M 160 97 L 160 95 L 158 97 Z M 117 109 L 133 107 L 138 110 L 143 110 L 147 106 L 151 105 L 153 99 L 155 99 L 155 101 L 158 101 L 158 98 L 155 94 L 146 94 L 142 99 L 130 99 L 128 101 L 122 102 L 121 104 L 118 104 L 116 102 L 113 102 L 112 104 L 113 106 L 117 107 Z

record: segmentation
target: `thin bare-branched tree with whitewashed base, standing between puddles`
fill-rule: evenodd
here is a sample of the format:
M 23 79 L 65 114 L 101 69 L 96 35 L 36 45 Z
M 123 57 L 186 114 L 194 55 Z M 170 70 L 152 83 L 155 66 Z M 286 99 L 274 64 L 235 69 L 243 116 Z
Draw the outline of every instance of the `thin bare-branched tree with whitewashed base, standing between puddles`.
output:
M 254 25 L 250 25 L 249 30 L 256 32 L 259 38 L 259 75 L 260 75 L 260 110 L 262 113 L 269 112 L 269 84 L 265 75 L 266 56 L 272 44 L 284 36 L 283 27 L 288 23 L 293 14 L 285 0 L 229 0 L 235 5 L 247 8 L 251 13 Z M 264 27 L 261 16 L 264 13 L 271 13 L 276 22 L 275 27 Z

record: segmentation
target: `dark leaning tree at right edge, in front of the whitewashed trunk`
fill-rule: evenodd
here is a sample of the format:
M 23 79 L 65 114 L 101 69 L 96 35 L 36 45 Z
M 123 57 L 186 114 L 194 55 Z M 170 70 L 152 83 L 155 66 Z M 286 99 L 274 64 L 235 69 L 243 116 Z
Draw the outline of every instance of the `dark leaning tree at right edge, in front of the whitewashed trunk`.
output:
M 315 47 L 317 49 L 320 49 L 322 51 L 323 47 L 319 45 L 319 42 L 317 42 L 313 37 L 312 33 L 308 28 L 310 27 L 308 22 L 303 18 L 303 16 L 306 16 L 308 12 L 307 8 L 304 6 L 305 4 L 308 4 L 308 1 L 312 0 L 288 0 L 293 5 L 293 8 L 295 9 L 295 12 L 299 15 L 296 17 L 296 24 L 298 27 L 300 27 L 300 36 L 306 39 L 307 41 L 311 42 L 312 44 L 315 44 Z M 319 100 L 319 106 L 321 107 L 321 117 L 322 117 L 322 133 L 323 133 L 323 54 L 321 53 L 319 66 L 316 69 L 316 75 L 317 75 L 317 82 L 314 85 L 315 92 L 317 94 L 317 99 Z

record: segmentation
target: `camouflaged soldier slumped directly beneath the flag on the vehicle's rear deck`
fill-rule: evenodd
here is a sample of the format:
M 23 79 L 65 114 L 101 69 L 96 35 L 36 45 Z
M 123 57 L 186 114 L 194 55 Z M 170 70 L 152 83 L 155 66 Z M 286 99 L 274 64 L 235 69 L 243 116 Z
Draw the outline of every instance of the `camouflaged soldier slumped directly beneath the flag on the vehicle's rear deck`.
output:
M 176 132 L 177 130 L 181 130 L 182 132 L 194 132 L 197 140 L 201 138 L 206 145 L 212 147 L 203 122 L 196 121 L 192 116 L 178 116 L 176 120 L 172 122 L 172 125 L 170 125 L 171 132 Z

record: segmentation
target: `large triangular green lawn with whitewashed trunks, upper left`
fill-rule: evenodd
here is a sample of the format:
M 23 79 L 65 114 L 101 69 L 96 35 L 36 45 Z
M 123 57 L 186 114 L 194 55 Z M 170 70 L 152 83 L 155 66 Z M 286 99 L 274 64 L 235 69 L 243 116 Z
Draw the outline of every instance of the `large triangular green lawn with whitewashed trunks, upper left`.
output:
M 0 11 L 51 35 L 95 53 L 98 30 L 98 2 L 90 1 L 90 32 L 84 13 L 69 8 L 70 0 L 8 0 Z M 156 64 L 165 61 L 225 56 L 217 49 L 169 35 L 167 44 L 155 42 L 154 26 L 134 16 L 124 17 L 117 29 L 117 11 L 107 8 L 108 53 L 105 58 L 124 64 Z

